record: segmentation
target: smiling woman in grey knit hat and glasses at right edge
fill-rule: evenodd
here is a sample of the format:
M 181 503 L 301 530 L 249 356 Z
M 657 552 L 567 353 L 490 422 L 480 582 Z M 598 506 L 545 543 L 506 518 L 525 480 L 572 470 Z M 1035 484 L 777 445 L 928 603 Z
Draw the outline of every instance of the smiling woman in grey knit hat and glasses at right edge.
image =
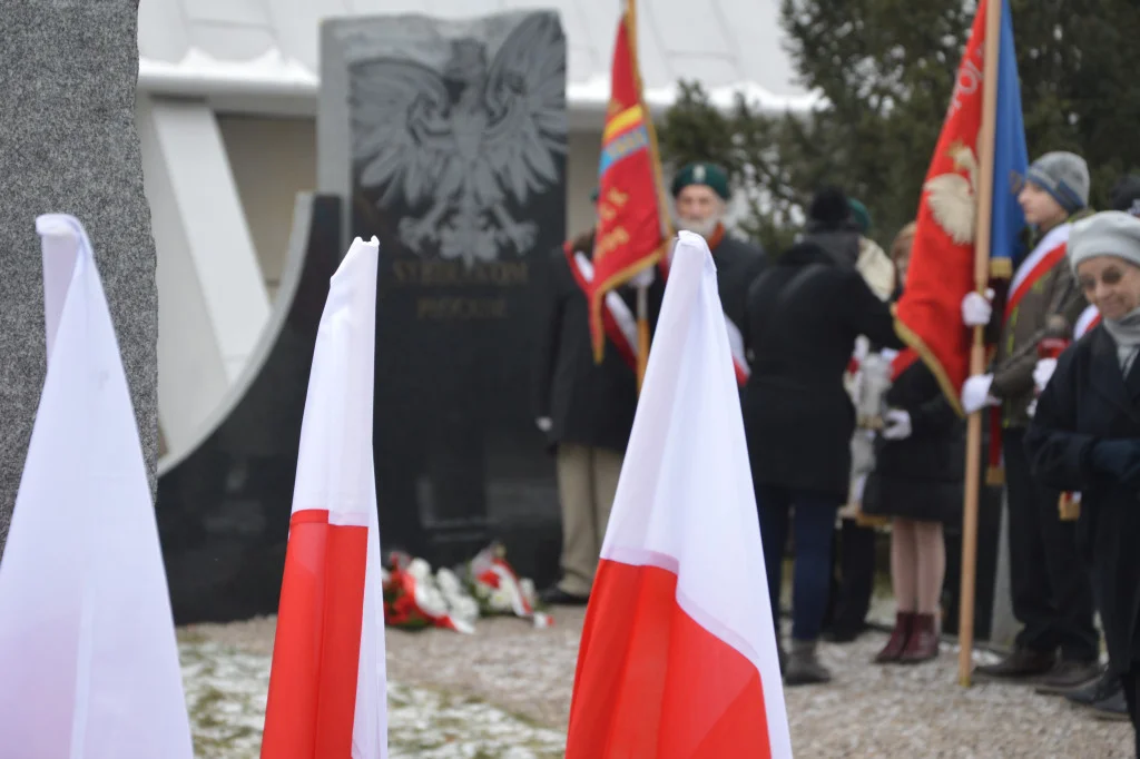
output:
M 1135 731 L 1140 699 L 1140 219 L 1073 227 L 1070 264 L 1101 323 L 1057 361 L 1025 446 L 1036 476 L 1080 491 L 1077 540 L 1099 602 L 1109 666 Z M 1140 756 L 1140 738 L 1137 741 Z

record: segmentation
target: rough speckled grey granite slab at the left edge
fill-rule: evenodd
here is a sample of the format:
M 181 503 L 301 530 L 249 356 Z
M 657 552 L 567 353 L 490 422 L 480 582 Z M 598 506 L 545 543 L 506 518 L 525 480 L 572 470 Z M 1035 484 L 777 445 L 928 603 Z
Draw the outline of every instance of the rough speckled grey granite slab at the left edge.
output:
M 90 235 L 154 487 L 158 302 L 137 28 L 138 0 L 0 3 L 0 545 L 47 370 L 38 214 L 73 214 Z

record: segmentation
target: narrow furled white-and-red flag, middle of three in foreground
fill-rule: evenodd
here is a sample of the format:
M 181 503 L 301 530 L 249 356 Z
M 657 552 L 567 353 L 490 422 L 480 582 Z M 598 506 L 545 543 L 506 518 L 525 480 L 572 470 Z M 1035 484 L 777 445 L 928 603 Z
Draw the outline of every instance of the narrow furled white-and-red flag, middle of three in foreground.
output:
M 380 243 L 329 280 L 293 490 L 264 759 L 383 759 L 388 687 L 372 458 Z

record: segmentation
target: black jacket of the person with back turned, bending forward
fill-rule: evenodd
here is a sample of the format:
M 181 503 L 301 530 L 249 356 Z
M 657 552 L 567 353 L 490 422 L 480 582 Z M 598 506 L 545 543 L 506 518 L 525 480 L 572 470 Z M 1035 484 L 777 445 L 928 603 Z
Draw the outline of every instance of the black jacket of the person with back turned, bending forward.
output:
M 844 373 L 858 335 L 902 348 L 890 307 L 854 268 L 800 244 L 752 284 L 743 333 L 752 369 L 743 413 L 754 481 L 841 503 L 855 431 Z

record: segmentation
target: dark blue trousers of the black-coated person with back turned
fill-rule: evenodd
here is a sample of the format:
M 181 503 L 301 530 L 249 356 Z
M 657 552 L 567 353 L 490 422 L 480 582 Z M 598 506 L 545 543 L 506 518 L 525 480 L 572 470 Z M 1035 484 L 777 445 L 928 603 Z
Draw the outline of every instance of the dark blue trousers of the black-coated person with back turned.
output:
M 831 542 L 839 501 L 825 493 L 757 484 L 756 506 L 776 640 L 780 639 L 780 587 L 789 528 L 796 540 L 791 637 L 793 640 L 816 640 L 831 589 Z

